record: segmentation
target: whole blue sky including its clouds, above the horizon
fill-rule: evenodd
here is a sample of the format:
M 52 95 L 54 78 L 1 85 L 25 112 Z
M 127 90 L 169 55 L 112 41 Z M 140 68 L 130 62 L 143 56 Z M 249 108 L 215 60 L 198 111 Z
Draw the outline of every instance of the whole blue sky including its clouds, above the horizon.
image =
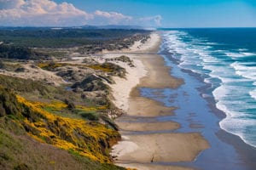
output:
M 256 27 L 256 0 L 0 0 L 0 26 Z

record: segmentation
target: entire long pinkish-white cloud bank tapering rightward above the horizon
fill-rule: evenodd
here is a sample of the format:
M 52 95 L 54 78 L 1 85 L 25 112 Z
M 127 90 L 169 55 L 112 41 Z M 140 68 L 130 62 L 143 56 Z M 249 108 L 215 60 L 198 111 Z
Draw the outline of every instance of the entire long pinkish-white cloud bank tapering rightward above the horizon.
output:
M 51 0 L 0 0 L 0 26 L 84 26 L 137 25 L 160 26 L 161 16 L 135 19 L 117 12 L 96 10 L 87 13 L 72 3 Z

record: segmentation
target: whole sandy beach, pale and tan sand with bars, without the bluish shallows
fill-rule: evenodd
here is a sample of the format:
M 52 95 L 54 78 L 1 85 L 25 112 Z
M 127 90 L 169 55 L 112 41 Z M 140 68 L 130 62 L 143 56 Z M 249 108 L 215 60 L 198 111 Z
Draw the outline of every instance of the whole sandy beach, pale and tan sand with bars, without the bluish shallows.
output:
M 136 47 L 137 46 L 137 47 Z M 177 88 L 182 79 L 172 77 L 164 59 L 156 54 L 160 36 L 156 33 L 145 44 L 136 43 L 129 53 L 104 54 L 103 58 L 126 55 L 135 67 L 122 65 L 125 79 L 116 77 L 113 103 L 126 114 L 116 120 L 122 141 L 113 146 L 112 156 L 117 165 L 137 169 L 189 169 L 189 167 L 154 165 L 153 162 L 193 161 L 209 144 L 200 133 L 172 133 L 180 127 L 177 122 L 159 122 L 157 116 L 170 116 L 175 107 L 167 107 L 144 98 L 138 88 Z M 139 50 L 138 50 L 139 49 Z M 160 133 L 168 131 L 169 133 Z

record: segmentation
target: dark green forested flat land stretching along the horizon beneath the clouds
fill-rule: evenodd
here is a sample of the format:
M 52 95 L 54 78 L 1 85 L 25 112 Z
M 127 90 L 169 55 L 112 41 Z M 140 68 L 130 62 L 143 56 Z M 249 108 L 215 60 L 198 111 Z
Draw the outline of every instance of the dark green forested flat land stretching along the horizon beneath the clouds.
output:
M 0 30 L 0 41 L 30 48 L 67 48 L 83 45 L 99 45 L 120 42 L 135 34 L 147 34 L 143 30 L 119 29 L 61 29 L 13 28 Z

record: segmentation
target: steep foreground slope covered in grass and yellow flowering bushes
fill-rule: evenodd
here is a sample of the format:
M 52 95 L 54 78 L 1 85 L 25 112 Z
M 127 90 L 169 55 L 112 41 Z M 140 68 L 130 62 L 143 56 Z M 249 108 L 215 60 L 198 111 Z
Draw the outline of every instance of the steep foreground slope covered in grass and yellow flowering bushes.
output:
M 57 116 L 0 88 L 0 169 L 123 169 L 108 155 L 119 138 L 99 122 Z

